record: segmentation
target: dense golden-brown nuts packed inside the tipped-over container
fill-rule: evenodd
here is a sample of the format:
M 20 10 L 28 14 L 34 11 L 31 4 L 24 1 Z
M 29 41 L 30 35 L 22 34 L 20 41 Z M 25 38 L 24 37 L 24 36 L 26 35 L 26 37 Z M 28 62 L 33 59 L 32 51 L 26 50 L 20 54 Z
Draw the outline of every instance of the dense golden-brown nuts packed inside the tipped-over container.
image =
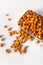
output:
M 18 25 L 27 33 L 43 39 L 43 16 L 28 10 L 19 20 Z

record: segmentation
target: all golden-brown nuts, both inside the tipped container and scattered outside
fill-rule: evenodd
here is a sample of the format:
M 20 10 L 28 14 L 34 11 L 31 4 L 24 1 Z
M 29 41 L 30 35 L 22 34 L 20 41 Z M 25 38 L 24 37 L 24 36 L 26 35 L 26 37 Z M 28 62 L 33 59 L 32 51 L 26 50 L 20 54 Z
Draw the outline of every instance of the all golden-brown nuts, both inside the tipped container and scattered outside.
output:
M 6 16 L 9 16 L 9 14 L 6 14 Z M 8 20 L 10 21 L 11 19 L 8 18 Z M 19 52 L 20 54 L 26 53 L 28 46 L 23 46 L 22 44 L 27 40 L 34 40 L 35 37 L 43 41 L 43 16 L 40 14 L 35 11 L 28 10 L 19 19 L 18 25 L 20 26 L 19 31 L 12 31 L 12 28 L 8 28 L 9 36 L 12 37 L 14 34 L 18 35 L 10 46 L 13 52 Z M 4 26 L 4 28 L 7 27 L 7 25 Z M 5 39 L 2 38 L 1 40 L 4 41 Z M 39 42 L 39 40 L 36 41 L 36 43 Z M 0 44 L 0 46 L 2 47 L 3 45 Z M 6 49 L 6 52 L 10 53 L 11 50 Z

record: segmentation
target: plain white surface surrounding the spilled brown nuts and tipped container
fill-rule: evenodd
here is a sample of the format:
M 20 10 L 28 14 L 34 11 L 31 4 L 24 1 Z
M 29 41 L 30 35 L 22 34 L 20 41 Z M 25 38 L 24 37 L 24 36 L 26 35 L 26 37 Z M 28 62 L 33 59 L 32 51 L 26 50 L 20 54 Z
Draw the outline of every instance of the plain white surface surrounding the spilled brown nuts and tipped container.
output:
M 12 44 L 15 36 L 9 37 L 3 26 L 6 24 L 12 26 L 14 30 L 19 30 L 17 22 L 28 9 L 35 10 L 43 15 L 43 0 L 0 0 L 0 34 L 4 34 L 6 38 L 5 46 L 0 48 L 0 65 L 43 65 L 43 47 L 40 47 L 41 43 L 36 44 L 35 40 L 25 43 L 30 45 L 26 54 L 20 55 L 14 52 L 6 54 L 5 52 L 5 49 Z M 11 22 L 8 22 L 6 13 L 10 14 Z

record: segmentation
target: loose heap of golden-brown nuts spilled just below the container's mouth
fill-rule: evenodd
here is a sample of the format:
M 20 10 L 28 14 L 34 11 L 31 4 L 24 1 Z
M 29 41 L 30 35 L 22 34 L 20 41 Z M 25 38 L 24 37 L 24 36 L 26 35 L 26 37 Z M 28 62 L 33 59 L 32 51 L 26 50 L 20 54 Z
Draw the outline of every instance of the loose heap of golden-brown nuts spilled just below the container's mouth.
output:
M 16 40 L 13 41 L 11 48 L 14 50 L 14 52 L 20 52 L 20 54 L 23 54 L 26 52 L 28 46 L 22 46 L 22 44 L 28 39 L 33 40 L 33 37 L 23 30 L 19 30 L 18 34 L 19 35 L 16 36 Z

